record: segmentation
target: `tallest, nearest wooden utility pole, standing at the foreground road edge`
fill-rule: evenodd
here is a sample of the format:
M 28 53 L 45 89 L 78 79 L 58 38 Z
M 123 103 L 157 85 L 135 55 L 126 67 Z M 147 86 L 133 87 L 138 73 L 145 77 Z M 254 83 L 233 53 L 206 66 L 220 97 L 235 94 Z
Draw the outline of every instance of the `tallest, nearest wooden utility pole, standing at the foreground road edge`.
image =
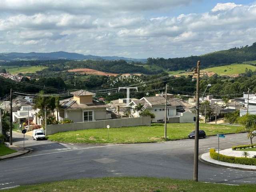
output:
M 199 132 L 199 80 L 200 80 L 200 61 L 196 65 L 196 126 L 195 126 L 195 146 L 194 146 L 194 175 L 193 180 L 198 182 L 198 132 Z

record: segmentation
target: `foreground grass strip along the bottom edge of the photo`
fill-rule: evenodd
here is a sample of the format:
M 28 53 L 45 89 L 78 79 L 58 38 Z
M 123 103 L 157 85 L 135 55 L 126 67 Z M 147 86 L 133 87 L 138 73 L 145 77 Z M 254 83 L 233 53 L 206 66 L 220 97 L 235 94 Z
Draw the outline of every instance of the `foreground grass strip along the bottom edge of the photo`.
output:
M 255 192 L 256 185 L 230 186 L 168 178 L 96 178 L 20 186 L 3 192 Z

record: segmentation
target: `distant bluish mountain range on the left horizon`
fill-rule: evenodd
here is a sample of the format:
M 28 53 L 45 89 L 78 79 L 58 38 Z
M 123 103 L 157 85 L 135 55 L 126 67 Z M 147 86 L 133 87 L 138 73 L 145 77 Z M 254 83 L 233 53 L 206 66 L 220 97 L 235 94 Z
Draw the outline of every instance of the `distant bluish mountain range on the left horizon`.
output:
M 134 59 L 125 58 L 118 56 L 95 56 L 95 55 L 84 55 L 78 53 L 69 53 L 64 51 L 50 52 L 50 53 L 0 53 L 0 61 L 12 61 L 12 60 L 57 60 L 57 59 L 67 59 L 67 60 L 126 60 L 128 62 L 146 62 L 146 59 Z

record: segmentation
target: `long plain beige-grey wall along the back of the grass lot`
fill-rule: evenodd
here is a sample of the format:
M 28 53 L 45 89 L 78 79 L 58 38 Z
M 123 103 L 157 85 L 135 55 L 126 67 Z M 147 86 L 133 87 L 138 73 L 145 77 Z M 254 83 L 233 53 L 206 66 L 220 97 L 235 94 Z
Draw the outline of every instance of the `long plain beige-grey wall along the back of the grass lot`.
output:
M 100 120 L 91 122 L 77 122 L 77 123 L 66 123 L 66 124 L 54 124 L 47 125 L 46 134 L 51 135 L 58 132 L 83 130 L 83 129 L 95 129 L 95 128 L 106 128 L 107 125 L 110 128 L 118 127 L 132 127 L 132 126 L 150 126 L 150 116 L 136 117 L 136 118 L 122 118 L 122 119 L 110 119 Z

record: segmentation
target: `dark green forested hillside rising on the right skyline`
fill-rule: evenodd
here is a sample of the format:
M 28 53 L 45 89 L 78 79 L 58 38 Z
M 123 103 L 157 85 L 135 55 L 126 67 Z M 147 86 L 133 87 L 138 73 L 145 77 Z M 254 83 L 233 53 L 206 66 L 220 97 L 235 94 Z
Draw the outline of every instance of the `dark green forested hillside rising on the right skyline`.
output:
M 148 65 L 157 65 L 166 70 L 184 70 L 196 66 L 201 61 L 201 67 L 214 67 L 244 61 L 256 60 L 256 42 L 252 46 L 232 48 L 229 50 L 216 51 L 201 56 L 190 56 L 182 58 L 148 58 Z

